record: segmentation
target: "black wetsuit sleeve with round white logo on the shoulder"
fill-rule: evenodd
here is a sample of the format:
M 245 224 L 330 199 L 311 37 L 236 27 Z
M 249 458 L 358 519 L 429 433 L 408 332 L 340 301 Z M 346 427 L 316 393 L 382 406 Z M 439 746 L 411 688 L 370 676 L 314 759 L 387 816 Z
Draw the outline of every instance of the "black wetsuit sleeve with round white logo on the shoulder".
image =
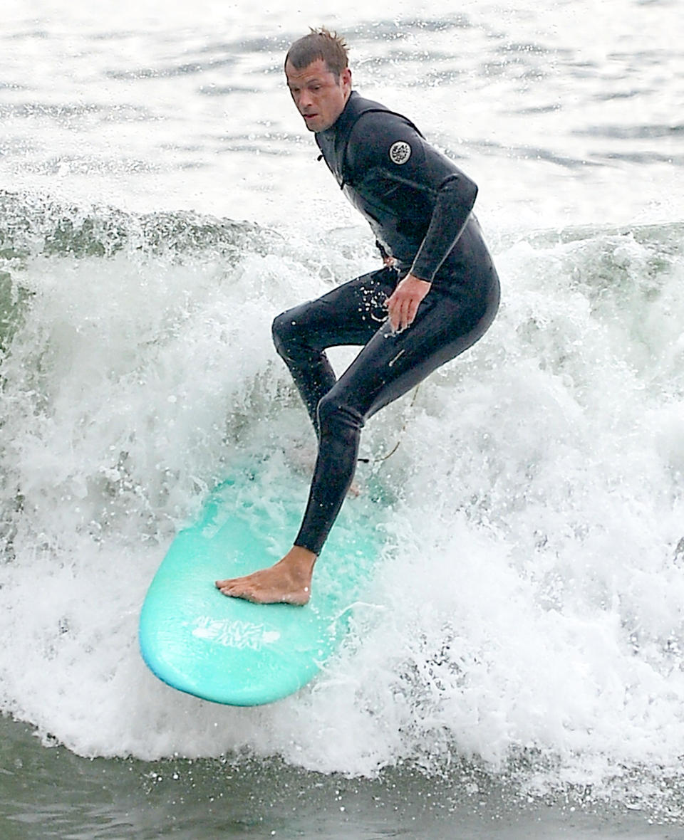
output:
M 394 113 L 366 113 L 347 152 L 350 178 L 424 232 L 411 273 L 432 282 L 470 216 L 477 186 Z

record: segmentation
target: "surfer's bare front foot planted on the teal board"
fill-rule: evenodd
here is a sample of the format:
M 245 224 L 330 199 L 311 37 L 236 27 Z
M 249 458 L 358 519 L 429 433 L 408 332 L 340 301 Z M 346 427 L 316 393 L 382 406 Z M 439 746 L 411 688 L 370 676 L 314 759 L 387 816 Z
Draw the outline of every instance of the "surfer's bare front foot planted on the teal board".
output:
M 231 598 L 255 604 L 303 606 L 311 597 L 311 578 L 316 555 L 295 545 L 269 569 L 239 578 L 217 580 L 218 590 Z

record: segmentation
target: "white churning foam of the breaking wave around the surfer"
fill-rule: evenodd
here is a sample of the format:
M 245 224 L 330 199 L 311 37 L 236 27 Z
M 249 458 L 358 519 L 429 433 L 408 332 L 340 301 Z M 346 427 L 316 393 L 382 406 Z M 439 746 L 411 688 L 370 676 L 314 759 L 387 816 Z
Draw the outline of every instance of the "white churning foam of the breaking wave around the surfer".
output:
M 368 254 L 355 231 L 339 237 L 347 257 L 337 242 L 323 256 L 350 276 Z M 3 710 L 86 755 L 249 748 L 349 774 L 538 755 L 542 786 L 675 766 L 676 227 L 521 238 L 497 255 L 487 337 L 366 428 L 368 454 L 401 440 L 359 473 L 395 500 L 387 544 L 312 686 L 235 710 L 145 669 L 139 606 L 175 528 L 231 459 L 281 449 L 287 481 L 313 445 L 269 335 L 329 283 L 313 255 L 298 242 L 232 262 L 213 246 L 24 260 L 30 296 L 3 362 Z

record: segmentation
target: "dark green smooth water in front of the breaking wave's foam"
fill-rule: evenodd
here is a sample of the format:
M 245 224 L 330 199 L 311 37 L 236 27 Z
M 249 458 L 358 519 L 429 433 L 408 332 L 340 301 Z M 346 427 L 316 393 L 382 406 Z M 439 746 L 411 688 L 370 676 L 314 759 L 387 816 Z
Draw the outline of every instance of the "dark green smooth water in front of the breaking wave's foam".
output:
M 0 721 L 3 840 L 656 840 L 684 828 L 581 797 L 527 801 L 510 781 L 467 772 L 430 779 L 393 769 L 375 780 L 277 761 L 82 759 Z

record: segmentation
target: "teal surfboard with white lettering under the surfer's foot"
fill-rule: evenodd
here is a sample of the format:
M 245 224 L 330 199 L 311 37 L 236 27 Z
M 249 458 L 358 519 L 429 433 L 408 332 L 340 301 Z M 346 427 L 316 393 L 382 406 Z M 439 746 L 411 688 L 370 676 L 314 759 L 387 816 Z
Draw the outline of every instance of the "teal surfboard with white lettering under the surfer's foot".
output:
M 280 559 L 297 534 L 308 485 L 282 465 L 236 470 L 176 535 L 145 596 L 140 651 L 173 688 L 257 706 L 312 680 L 347 631 L 376 561 L 368 501 L 348 499 L 316 566 L 306 606 L 228 598 L 214 580 Z

